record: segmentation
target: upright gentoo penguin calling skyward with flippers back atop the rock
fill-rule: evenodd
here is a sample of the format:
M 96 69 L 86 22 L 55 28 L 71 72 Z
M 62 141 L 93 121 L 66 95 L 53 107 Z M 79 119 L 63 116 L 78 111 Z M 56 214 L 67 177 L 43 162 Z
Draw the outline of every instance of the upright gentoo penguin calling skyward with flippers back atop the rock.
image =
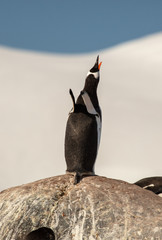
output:
M 77 101 L 72 90 L 69 91 L 73 108 L 66 125 L 65 159 L 66 172 L 75 176 L 74 184 L 77 184 L 82 176 L 94 175 L 94 163 L 101 136 L 101 109 L 97 98 L 100 66 L 98 56 L 87 74 Z

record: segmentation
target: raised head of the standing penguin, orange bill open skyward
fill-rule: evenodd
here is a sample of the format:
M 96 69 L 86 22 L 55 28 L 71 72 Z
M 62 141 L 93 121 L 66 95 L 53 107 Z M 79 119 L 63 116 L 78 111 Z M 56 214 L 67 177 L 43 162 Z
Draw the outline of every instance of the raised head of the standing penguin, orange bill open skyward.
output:
M 87 92 L 92 92 L 97 90 L 97 86 L 100 78 L 100 67 L 102 62 L 99 63 L 99 56 L 97 56 L 94 66 L 90 69 L 87 74 L 84 89 Z

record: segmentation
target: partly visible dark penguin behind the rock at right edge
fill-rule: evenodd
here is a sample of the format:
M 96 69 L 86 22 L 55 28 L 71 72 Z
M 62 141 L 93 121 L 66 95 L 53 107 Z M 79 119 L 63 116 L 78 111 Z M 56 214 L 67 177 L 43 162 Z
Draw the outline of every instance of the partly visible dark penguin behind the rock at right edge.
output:
M 162 177 L 143 178 L 135 184 L 162 197 Z

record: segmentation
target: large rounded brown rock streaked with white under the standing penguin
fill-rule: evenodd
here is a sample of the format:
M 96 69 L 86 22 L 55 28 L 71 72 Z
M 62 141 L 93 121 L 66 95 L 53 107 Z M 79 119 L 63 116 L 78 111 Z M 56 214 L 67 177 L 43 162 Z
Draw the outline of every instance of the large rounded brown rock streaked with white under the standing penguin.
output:
M 0 193 L 1 240 L 24 240 L 41 228 L 57 240 L 162 239 L 162 198 L 100 176 L 73 185 L 71 175 Z

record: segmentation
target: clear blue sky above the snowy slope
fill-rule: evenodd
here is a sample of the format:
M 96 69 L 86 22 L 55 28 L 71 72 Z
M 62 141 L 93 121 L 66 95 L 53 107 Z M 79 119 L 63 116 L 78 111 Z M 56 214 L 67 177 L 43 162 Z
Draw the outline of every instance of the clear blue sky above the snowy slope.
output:
M 15 48 L 85 53 L 161 30 L 161 0 L 0 1 L 0 45 Z

